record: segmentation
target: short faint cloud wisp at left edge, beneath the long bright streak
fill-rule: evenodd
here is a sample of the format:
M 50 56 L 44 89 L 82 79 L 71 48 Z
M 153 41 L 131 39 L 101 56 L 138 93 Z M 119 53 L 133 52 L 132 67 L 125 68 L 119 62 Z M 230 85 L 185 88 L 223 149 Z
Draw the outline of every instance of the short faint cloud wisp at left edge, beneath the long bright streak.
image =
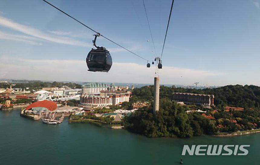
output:
M 3 33 L 1 31 L 0 31 L 0 39 L 20 41 L 31 45 L 42 45 L 41 43 L 31 41 L 31 40 L 37 40 L 37 38 L 35 37 L 8 34 L 8 33 Z

